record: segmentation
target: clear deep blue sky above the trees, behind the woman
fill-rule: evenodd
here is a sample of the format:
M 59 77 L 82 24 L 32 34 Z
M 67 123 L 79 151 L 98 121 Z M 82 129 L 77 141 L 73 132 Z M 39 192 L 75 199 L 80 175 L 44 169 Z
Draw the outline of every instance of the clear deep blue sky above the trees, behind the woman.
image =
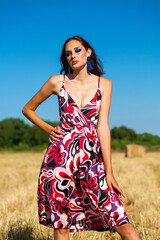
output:
M 0 1 L 0 120 L 22 108 L 54 74 L 62 46 L 84 37 L 113 82 L 109 125 L 160 136 L 160 1 Z M 59 121 L 57 96 L 36 110 Z

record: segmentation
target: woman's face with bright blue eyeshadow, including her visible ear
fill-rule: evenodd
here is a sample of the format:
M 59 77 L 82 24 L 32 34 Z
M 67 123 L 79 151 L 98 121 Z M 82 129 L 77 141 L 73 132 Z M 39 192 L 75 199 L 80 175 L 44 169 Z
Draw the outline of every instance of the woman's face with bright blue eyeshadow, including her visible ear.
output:
M 65 55 L 70 67 L 79 70 L 87 66 L 87 57 L 91 55 L 91 49 L 86 50 L 81 42 L 71 40 L 65 46 Z

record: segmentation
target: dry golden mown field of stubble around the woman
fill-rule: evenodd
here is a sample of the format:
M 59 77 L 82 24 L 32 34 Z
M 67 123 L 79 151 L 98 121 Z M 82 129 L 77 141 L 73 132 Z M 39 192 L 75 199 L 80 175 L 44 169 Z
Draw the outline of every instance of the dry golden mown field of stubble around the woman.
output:
M 54 230 L 38 222 L 37 184 L 44 153 L 0 153 L 1 240 L 50 240 Z M 125 158 L 112 152 L 114 176 L 126 213 L 143 240 L 160 239 L 160 152 Z M 76 232 L 71 240 L 121 239 L 117 233 Z

